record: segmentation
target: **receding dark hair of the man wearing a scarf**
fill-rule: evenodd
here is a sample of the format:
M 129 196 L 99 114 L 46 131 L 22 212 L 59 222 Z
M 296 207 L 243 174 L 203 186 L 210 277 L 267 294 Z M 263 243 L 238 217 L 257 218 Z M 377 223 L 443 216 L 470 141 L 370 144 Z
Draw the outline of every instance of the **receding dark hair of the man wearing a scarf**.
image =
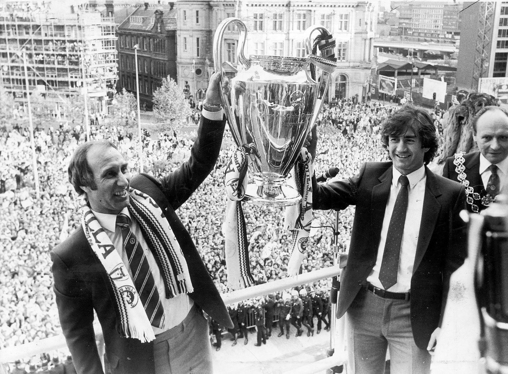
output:
M 71 182 L 79 195 L 85 193 L 80 186 L 90 187 L 92 190 L 97 189 L 97 184 L 93 180 L 93 171 L 86 159 L 88 150 L 94 145 L 102 145 L 104 148 L 112 147 L 117 149 L 109 140 L 86 142 L 76 148 L 72 155 L 71 162 L 69 162 L 67 173 L 69 174 L 69 182 Z

